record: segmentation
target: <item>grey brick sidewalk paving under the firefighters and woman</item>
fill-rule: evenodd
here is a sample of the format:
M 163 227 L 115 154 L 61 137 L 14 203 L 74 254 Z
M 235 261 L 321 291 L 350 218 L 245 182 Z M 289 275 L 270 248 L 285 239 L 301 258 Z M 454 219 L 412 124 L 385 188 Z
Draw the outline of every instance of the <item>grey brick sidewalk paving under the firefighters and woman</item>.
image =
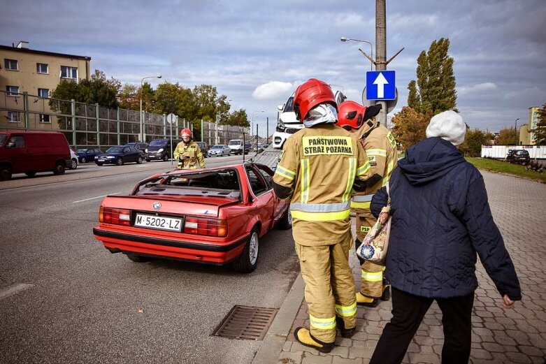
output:
M 479 287 L 473 308 L 470 363 L 546 363 L 546 184 L 482 171 L 489 203 L 505 245 L 514 261 L 522 301 L 501 307 L 501 297 L 481 263 Z M 360 266 L 351 252 L 354 282 L 360 284 Z M 294 328 L 309 327 L 301 276 L 296 279 L 273 327 L 253 363 L 366 364 L 382 329 L 391 317 L 391 302 L 358 307 L 357 333 L 351 339 L 338 335 L 329 354 L 301 345 Z M 440 363 L 443 345 L 442 314 L 433 303 L 415 335 L 403 363 Z M 267 359 L 266 359 L 267 358 Z

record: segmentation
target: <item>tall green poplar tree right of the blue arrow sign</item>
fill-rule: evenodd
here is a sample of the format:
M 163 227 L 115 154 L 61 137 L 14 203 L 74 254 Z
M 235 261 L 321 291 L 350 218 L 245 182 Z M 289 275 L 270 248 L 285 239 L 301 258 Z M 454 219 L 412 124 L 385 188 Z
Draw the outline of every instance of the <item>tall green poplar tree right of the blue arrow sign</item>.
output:
M 433 41 L 429 52 L 422 51 L 417 58 L 417 83 L 408 84 L 408 106 L 413 110 L 436 115 L 446 110 L 457 111 L 457 91 L 453 73 L 453 58 L 447 51 L 448 38 Z

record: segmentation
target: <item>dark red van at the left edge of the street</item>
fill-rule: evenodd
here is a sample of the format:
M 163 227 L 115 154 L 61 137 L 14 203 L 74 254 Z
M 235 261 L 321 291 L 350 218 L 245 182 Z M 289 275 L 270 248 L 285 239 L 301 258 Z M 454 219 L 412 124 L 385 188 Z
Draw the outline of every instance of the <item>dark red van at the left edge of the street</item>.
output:
M 0 131 L 0 180 L 13 173 L 29 177 L 52 171 L 64 175 L 70 161 L 69 142 L 55 131 Z

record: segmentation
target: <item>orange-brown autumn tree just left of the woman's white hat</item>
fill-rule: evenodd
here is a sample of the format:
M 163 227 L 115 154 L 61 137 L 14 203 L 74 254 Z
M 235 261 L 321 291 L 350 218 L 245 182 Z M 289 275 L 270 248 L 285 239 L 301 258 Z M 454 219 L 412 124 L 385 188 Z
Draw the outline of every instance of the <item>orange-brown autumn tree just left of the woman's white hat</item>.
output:
M 406 149 L 411 145 L 426 138 L 426 126 L 431 120 L 431 113 L 422 114 L 404 106 L 400 112 L 397 112 L 392 117 L 394 128 L 392 132 L 396 141 L 401 144 L 402 149 Z

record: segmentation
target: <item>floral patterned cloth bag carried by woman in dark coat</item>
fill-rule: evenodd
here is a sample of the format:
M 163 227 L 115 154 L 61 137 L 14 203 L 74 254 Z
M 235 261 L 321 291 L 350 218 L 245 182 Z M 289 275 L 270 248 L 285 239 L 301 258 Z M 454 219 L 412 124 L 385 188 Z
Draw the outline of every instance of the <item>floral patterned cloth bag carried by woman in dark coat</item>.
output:
M 378 221 L 375 221 L 372 228 L 366 234 L 364 241 L 357 249 L 357 255 L 361 259 L 373 263 L 385 263 L 387 249 L 389 247 L 389 234 L 391 231 L 391 197 L 389 195 L 389 184 L 387 183 L 387 206 L 381 209 Z

